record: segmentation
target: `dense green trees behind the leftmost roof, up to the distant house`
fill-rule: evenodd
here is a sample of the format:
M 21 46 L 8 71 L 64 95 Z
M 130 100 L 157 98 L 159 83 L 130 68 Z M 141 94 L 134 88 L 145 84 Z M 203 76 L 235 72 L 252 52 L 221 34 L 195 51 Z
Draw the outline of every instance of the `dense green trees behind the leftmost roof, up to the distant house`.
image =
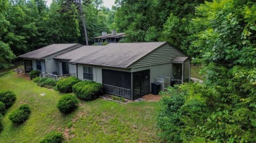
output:
M 110 32 L 113 11 L 102 1 L 83 1 L 89 43 L 102 31 Z M 77 2 L 57 0 L 0 1 L 0 68 L 8 68 L 16 57 L 49 44 L 85 44 Z

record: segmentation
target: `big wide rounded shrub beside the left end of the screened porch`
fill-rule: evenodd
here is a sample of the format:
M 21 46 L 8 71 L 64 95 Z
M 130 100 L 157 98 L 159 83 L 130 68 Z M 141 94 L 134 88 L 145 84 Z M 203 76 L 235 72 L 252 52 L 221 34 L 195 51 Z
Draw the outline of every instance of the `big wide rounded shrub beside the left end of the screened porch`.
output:
M 73 86 L 73 92 L 79 99 L 91 101 L 98 98 L 103 93 L 102 84 L 92 81 L 78 82 Z

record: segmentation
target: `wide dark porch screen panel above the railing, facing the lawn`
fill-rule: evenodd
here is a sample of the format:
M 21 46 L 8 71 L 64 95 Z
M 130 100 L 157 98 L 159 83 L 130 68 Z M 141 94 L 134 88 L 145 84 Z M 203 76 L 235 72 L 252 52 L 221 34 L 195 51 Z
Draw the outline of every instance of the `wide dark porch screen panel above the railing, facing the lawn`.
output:
M 102 69 L 102 84 L 131 89 L 131 72 Z

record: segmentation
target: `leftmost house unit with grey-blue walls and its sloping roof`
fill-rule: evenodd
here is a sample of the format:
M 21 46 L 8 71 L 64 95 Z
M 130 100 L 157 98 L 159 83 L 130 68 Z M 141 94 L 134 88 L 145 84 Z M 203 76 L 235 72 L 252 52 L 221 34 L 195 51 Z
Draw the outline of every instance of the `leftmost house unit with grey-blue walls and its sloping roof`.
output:
M 32 52 L 23 54 L 25 72 L 28 73 L 33 70 L 47 72 L 51 74 L 59 74 L 58 61 L 54 57 L 70 52 L 83 45 L 81 44 L 51 44 L 43 48 L 39 48 Z

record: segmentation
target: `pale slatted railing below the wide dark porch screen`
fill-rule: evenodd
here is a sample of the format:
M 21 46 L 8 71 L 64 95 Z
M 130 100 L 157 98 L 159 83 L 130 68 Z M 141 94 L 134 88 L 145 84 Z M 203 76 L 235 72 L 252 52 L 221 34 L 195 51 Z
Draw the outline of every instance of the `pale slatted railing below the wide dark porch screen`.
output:
M 108 84 L 103 84 L 106 93 L 117 95 L 119 97 L 123 97 L 125 99 L 131 99 L 131 89 L 110 86 Z

